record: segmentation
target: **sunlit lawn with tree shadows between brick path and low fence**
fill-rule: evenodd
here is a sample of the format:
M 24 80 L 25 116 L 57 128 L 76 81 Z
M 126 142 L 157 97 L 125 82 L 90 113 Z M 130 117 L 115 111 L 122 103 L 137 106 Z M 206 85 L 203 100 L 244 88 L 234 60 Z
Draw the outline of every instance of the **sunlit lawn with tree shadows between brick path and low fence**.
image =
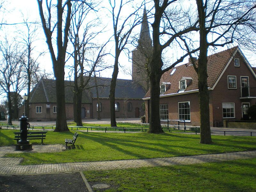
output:
M 0 130 L 0 146 L 14 145 L 13 132 Z M 46 133 L 44 144 L 65 144 L 65 138 L 72 138 L 73 132 Z M 256 137 L 212 136 L 213 144 L 199 144 L 199 135 L 179 133 L 149 134 L 79 132 L 76 148 L 57 153 L 9 154 L 22 157 L 25 164 L 48 164 L 83 161 L 145 159 L 200 154 L 226 153 L 256 149 Z M 40 140 L 31 143 L 39 144 Z

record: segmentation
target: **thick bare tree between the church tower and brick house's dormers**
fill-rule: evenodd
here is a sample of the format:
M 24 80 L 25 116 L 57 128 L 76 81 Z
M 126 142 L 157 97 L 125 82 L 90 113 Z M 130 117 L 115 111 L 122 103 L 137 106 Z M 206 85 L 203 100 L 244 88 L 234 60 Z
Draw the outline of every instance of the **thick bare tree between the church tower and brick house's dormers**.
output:
M 170 70 L 175 65 L 180 63 L 186 56 L 188 56 L 188 53 L 186 53 L 175 62 L 173 62 L 171 66 L 164 66 L 164 62 L 162 60 L 163 50 L 169 47 L 173 42 L 175 42 L 177 37 L 188 34 L 191 31 L 198 30 L 198 28 L 196 27 L 198 23 L 197 21 L 195 21 L 194 23 L 184 22 L 184 18 L 187 18 L 186 14 L 177 14 L 182 11 L 181 9 L 177 10 L 177 8 L 170 8 L 168 10 L 172 14 L 176 14 L 175 20 L 173 20 L 173 22 L 170 22 L 170 19 L 166 16 L 166 11 L 168 6 L 176 1 L 177 0 L 154 0 L 154 22 L 151 24 L 153 30 L 153 53 L 152 59 L 149 64 L 150 107 L 148 132 L 150 133 L 163 132 L 160 124 L 159 113 L 159 85 L 161 76 L 164 74 L 164 72 Z

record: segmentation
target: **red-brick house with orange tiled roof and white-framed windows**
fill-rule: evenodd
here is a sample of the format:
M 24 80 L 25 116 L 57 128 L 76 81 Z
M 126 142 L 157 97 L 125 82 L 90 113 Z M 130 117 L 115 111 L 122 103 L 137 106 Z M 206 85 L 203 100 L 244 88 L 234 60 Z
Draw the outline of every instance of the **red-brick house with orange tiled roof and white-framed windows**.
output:
M 223 126 L 224 120 L 249 119 L 248 108 L 256 102 L 254 70 L 238 46 L 208 56 L 211 126 Z M 165 72 L 160 82 L 160 119 L 200 125 L 198 79 L 191 61 Z M 150 91 L 143 100 L 148 122 Z

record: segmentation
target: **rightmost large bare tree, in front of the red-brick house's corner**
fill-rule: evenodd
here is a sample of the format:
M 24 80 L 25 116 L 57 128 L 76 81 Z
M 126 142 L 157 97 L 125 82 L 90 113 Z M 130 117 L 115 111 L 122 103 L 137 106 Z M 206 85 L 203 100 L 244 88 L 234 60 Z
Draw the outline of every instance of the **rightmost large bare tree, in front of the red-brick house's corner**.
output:
M 207 52 L 210 47 L 225 46 L 237 42 L 255 50 L 256 5 L 255 1 L 203 1 L 196 0 L 199 18 L 199 58 L 195 62 L 191 52 L 196 45 L 185 43 L 198 76 L 200 105 L 200 143 L 212 143 L 210 129 L 209 91 L 207 85 Z M 190 13 L 191 15 L 194 12 Z

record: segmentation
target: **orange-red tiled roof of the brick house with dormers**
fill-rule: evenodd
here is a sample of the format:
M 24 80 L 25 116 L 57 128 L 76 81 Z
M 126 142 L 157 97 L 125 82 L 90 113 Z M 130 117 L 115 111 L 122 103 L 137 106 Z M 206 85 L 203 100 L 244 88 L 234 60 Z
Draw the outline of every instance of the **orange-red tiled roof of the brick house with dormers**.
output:
M 226 64 L 228 63 L 230 57 L 236 51 L 237 48 L 238 46 L 222 52 L 209 55 L 207 57 L 208 87 L 212 88 L 212 86 L 215 84 L 221 72 L 223 71 Z M 196 60 L 196 64 L 197 62 L 198 61 Z M 179 80 L 181 77 L 192 77 L 193 79 L 192 82 L 184 90 L 184 92 L 198 90 L 198 78 L 192 64 L 188 65 L 187 63 L 184 65 L 175 67 L 176 71 L 173 73 L 173 75 L 170 75 L 173 69 L 174 68 L 165 72 L 161 77 L 160 82 L 171 83 L 170 87 L 166 90 L 166 92 L 161 95 L 167 95 L 167 94 L 179 92 Z M 148 98 L 148 97 L 150 97 L 150 90 L 144 96 L 144 98 Z

